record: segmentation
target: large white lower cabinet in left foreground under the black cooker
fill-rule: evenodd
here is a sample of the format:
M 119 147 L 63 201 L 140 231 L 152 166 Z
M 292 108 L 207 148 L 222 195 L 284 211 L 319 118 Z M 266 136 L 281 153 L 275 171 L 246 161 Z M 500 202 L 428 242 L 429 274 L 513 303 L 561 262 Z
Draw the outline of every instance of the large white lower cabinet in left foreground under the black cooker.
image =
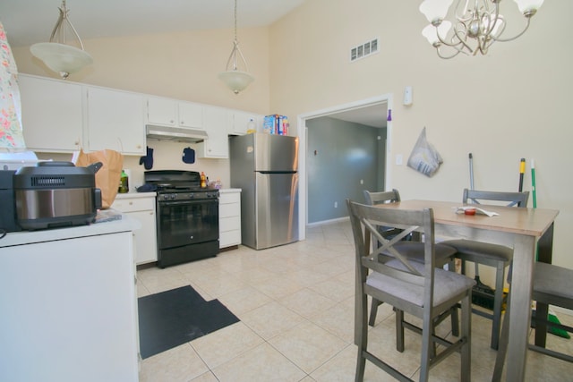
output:
M 0 247 L 0 380 L 139 380 L 132 232 L 98 225 L 52 230 L 86 236 Z

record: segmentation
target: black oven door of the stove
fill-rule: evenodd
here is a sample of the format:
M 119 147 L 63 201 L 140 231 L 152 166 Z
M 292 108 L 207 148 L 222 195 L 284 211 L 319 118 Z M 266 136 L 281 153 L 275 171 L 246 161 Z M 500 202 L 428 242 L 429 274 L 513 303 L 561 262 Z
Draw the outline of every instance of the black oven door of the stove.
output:
M 218 199 L 158 203 L 158 248 L 218 240 Z

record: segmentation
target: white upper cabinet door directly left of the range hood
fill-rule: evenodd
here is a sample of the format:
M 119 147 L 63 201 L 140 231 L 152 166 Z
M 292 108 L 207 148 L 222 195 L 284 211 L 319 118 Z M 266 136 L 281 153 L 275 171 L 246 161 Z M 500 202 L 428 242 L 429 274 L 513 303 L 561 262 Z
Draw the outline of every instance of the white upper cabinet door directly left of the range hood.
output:
M 120 90 L 88 88 L 88 148 L 145 154 L 143 96 Z

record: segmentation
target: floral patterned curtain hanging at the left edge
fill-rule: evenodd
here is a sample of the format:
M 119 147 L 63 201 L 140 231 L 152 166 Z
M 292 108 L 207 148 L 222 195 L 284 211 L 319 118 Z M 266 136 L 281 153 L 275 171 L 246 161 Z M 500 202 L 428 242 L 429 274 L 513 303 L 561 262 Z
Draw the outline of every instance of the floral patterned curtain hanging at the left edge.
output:
M 26 149 L 21 131 L 18 69 L 0 22 L 0 151 Z

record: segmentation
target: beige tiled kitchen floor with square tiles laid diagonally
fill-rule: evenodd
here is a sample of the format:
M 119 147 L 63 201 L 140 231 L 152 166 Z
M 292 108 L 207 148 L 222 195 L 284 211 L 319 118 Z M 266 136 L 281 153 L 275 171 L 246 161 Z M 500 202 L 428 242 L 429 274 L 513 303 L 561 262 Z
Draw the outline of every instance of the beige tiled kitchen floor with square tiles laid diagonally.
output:
M 353 381 L 354 245 L 347 222 L 309 228 L 307 240 L 269 250 L 240 246 L 216 258 L 138 271 L 140 296 L 191 284 L 241 319 L 217 332 L 141 361 L 142 382 Z M 558 315 L 573 325 L 573 317 Z M 406 330 L 406 351 L 395 348 L 394 316 L 382 305 L 369 348 L 418 378 L 419 336 Z M 448 320 L 447 320 L 448 321 Z M 440 326 L 447 335 L 448 322 Z M 496 352 L 491 321 L 472 318 L 472 380 L 489 381 Z M 548 347 L 573 353 L 573 339 L 548 335 Z M 570 381 L 573 366 L 527 354 L 528 381 Z M 366 362 L 365 381 L 387 381 Z M 431 370 L 432 381 L 459 380 L 458 354 Z

